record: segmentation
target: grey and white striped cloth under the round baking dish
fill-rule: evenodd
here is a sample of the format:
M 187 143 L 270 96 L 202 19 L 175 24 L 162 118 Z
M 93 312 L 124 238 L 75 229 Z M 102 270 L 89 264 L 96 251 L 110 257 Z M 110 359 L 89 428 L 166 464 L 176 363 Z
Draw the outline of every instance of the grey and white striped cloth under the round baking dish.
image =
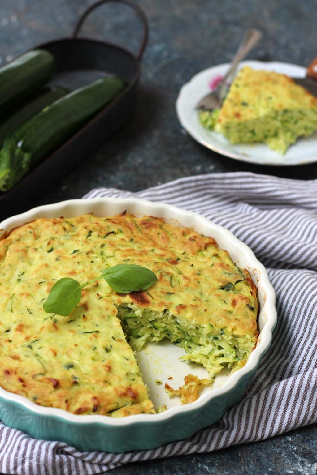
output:
M 210 452 L 317 422 L 317 180 L 252 173 L 183 178 L 130 193 L 100 188 L 84 198 L 138 196 L 197 211 L 230 229 L 267 267 L 279 320 L 270 351 L 238 405 L 193 437 L 127 454 L 80 453 L 0 426 L 5 474 L 99 474 L 127 462 Z

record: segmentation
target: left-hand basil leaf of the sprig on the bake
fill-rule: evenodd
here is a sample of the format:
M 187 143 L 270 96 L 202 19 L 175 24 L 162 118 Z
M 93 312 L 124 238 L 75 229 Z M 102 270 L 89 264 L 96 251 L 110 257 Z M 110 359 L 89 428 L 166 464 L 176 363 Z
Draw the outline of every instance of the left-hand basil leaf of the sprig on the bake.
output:
M 81 285 L 69 277 L 59 279 L 51 288 L 43 309 L 48 314 L 66 317 L 81 299 Z

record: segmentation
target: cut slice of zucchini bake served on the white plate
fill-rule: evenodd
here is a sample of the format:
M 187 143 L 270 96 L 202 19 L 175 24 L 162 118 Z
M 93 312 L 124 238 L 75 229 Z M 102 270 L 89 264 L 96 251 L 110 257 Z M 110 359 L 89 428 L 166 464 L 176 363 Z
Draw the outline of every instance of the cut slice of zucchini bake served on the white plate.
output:
M 199 117 L 231 143 L 265 142 L 282 155 L 299 137 L 317 130 L 317 98 L 286 75 L 245 66 L 221 109 Z

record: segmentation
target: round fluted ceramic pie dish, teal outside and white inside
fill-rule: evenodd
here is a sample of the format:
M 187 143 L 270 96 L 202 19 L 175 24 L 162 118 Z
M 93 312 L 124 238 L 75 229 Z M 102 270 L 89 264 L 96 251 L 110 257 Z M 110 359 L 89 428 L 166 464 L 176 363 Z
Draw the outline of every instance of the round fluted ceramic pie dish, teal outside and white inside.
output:
M 18 428 L 32 437 L 61 440 L 79 450 L 125 452 L 151 449 L 174 440 L 190 437 L 199 429 L 216 422 L 223 413 L 239 401 L 247 385 L 254 378 L 262 356 L 268 351 L 277 322 L 275 292 L 268 274 L 253 252 L 225 228 L 206 218 L 183 209 L 143 199 L 75 199 L 31 209 L 8 218 L 0 224 L 0 234 L 40 217 L 71 217 L 93 212 L 96 216 L 111 216 L 124 210 L 136 216 L 152 215 L 171 224 L 192 227 L 216 239 L 232 260 L 246 268 L 258 287 L 259 338 L 254 351 L 243 368 L 228 375 L 216 376 L 212 389 L 205 390 L 194 402 L 181 406 L 176 398 L 168 399 L 163 386 L 155 380 L 173 376 L 173 385 L 182 384 L 188 373 L 206 377 L 195 364 L 178 361 L 180 348 L 167 342 L 150 343 L 136 358 L 150 390 L 154 406 L 167 404 L 167 410 L 157 414 L 138 414 L 126 418 L 101 415 L 76 415 L 62 409 L 42 407 L 29 399 L 0 388 L 0 418 L 10 427 Z M 163 381 L 165 382 L 165 381 Z M 165 398 L 165 399 L 164 399 Z

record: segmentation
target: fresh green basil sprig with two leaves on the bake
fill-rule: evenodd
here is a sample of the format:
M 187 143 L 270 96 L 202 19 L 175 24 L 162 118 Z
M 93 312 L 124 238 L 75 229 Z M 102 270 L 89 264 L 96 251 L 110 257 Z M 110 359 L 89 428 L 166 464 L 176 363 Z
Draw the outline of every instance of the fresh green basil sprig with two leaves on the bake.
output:
M 119 294 L 126 294 L 135 290 L 146 290 L 157 277 L 152 270 L 137 264 L 117 264 L 107 267 L 101 276 L 80 284 L 75 279 L 63 277 L 51 288 L 43 309 L 48 314 L 58 314 L 66 317 L 75 308 L 81 299 L 81 290 L 86 285 L 105 279 L 108 285 Z

